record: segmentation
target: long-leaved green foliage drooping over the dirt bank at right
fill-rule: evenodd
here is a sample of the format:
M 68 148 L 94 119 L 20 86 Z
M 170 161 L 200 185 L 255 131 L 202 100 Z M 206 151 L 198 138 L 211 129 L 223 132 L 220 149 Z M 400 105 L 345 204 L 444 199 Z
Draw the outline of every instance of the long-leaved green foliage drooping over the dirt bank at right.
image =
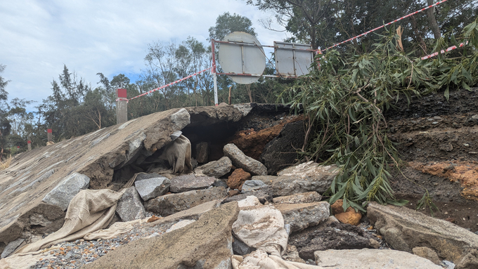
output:
M 399 96 L 410 100 L 441 88 L 447 95 L 451 89 L 477 84 L 477 20 L 465 27 L 463 39 L 470 40 L 471 53 L 460 58 L 415 58 L 414 51 L 398 48 L 399 36 L 390 29 L 370 53 L 331 50 L 319 55 L 320 68 L 283 93 L 293 96 L 292 107 L 303 109 L 309 118 L 304 158 L 340 167 L 330 188 L 331 203 L 344 199 L 344 204 L 363 210 L 368 201 L 406 202 L 395 199 L 389 183 L 389 171 L 399 168 L 400 159 L 387 136 L 383 111 L 393 109 Z M 438 40 L 435 48 L 445 48 L 445 40 Z

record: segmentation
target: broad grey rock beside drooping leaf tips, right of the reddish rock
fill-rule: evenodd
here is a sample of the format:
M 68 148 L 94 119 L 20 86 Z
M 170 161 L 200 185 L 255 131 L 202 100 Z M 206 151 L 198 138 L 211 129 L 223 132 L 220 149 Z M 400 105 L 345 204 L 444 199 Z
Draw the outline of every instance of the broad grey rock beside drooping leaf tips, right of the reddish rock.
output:
M 338 171 L 335 165 L 321 166 L 315 162 L 292 166 L 278 173 L 271 185 L 272 194 L 276 197 L 311 191 L 323 193 Z

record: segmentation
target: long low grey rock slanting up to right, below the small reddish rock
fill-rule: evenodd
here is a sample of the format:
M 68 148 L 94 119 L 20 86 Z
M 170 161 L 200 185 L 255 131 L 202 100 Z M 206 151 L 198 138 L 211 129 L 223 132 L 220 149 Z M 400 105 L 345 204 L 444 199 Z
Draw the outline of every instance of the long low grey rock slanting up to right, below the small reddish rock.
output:
M 161 216 L 168 216 L 179 211 L 190 209 L 193 206 L 215 199 L 227 197 L 225 188 L 210 188 L 206 190 L 190 190 L 188 192 L 163 195 L 145 202 L 146 210 L 153 211 Z

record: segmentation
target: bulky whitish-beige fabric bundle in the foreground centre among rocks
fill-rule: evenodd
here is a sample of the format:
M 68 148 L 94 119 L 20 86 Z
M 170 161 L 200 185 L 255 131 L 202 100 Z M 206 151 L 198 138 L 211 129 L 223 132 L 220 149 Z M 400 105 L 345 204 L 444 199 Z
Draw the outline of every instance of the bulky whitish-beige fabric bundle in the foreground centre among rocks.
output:
M 282 256 L 289 239 L 284 229 L 284 218 L 273 206 L 245 207 L 233 223 L 236 237 L 249 247 Z

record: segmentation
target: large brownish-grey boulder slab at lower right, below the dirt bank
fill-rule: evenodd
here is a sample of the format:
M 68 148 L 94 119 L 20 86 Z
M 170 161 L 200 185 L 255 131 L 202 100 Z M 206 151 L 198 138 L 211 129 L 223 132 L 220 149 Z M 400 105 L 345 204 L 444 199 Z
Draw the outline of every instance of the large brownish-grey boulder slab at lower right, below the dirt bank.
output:
M 429 247 L 439 257 L 458 263 L 470 251 L 478 249 L 478 235 L 474 232 L 404 206 L 371 202 L 367 216 L 397 250 L 411 252 L 415 247 Z

